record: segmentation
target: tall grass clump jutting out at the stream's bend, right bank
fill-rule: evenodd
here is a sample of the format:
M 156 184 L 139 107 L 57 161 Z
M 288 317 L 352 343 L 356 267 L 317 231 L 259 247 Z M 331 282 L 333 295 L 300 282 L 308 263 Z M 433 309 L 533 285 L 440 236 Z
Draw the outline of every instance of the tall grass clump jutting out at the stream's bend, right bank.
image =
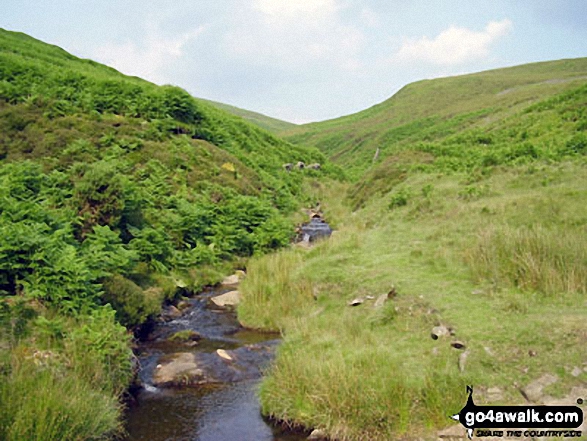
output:
M 312 283 L 296 274 L 299 253 L 285 251 L 252 259 L 242 282 L 239 319 L 246 326 L 279 330 L 284 320 L 300 316 L 313 304 Z

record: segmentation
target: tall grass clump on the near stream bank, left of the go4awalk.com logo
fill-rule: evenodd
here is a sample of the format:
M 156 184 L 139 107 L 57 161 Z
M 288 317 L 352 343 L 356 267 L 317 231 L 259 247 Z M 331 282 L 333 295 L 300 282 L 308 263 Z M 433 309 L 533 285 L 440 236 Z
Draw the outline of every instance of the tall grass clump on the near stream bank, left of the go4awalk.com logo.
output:
M 321 427 L 334 439 L 388 440 L 446 425 L 448 413 L 462 406 L 466 379 L 446 363 L 448 351 L 440 357 L 444 366 L 423 359 L 428 367 L 414 375 L 392 347 L 309 344 L 312 356 L 303 363 L 296 344 L 280 350 L 261 386 L 265 413 Z

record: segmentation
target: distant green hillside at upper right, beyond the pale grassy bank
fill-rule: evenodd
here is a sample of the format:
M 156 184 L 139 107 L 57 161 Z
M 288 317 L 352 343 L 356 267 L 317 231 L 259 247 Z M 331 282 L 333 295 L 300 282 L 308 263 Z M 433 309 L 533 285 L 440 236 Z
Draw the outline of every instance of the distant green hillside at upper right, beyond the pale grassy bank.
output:
M 473 156 L 497 163 L 512 143 L 541 155 L 584 130 L 586 85 L 587 58 L 425 80 L 370 109 L 282 135 L 318 147 L 355 177 L 404 150 L 448 168 L 465 156 L 470 167 L 479 162 Z

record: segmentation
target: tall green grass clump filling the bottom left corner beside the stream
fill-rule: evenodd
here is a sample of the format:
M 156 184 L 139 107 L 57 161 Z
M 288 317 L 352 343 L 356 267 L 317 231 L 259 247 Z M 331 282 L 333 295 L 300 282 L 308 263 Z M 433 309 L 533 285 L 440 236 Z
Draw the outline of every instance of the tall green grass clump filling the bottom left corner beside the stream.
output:
M 14 355 L 9 369 L 0 381 L 1 439 L 105 440 L 122 432 L 116 397 L 32 357 Z

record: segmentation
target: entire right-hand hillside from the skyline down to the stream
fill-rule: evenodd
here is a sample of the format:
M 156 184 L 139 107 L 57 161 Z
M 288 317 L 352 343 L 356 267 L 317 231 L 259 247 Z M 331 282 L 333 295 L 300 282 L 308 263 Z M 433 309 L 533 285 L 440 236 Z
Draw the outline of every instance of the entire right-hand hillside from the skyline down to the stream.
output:
M 249 263 L 239 317 L 285 335 L 264 413 L 331 439 L 465 439 L 466 385 L 478 405 L 587 393 L 586 71 L 422 81 L 289 133 L 354 182 L 314 188 L 328 241 Z

